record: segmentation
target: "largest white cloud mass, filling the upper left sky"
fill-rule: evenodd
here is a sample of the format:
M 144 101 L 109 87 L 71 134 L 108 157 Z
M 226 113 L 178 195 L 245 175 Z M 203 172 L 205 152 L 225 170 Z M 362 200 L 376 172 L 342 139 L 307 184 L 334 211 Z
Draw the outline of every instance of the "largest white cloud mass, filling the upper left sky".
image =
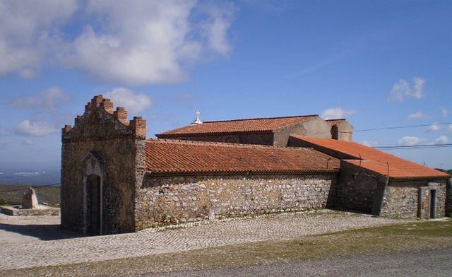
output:
M 50 64 L 125 85 L 184 81 L 229 54 L 234 13 L 225 1 L 1 1 L 0 74 L 34 78 Z

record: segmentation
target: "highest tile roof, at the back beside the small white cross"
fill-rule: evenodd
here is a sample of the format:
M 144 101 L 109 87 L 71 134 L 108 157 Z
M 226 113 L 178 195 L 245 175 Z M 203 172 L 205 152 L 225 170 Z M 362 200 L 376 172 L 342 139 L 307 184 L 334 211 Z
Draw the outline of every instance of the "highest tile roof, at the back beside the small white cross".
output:
M 319 117 L 318 115 L 303 115 L 296 117 L 272 117 L 272 118 L 254 118 L 254 119 L 236 119 L 217 122 L 203 122 L 198 125 L 189 125 L 179 129 L 166 131 L 157 134 L 157 137 L 169 137 L 172 135 L 189 134 L 231 134 L 256 131 L 273 131 L 284 126 L 305 122 L 309 119 Z

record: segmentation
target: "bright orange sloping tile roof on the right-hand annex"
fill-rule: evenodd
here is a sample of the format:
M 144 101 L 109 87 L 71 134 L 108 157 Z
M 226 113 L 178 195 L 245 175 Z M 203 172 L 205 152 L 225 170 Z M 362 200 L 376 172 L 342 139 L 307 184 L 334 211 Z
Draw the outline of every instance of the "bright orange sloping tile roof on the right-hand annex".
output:
M 395 155 L 391 155 L 356 142 L 338 141 L 335 139 L 296 138 L 323 148 L 329 148 L 334 151 L 350 155 L 357 160 L 346 160 L 347 163 L 364 167 L 367 170 L 377 172 L 381 175 L 388 174 L 389 164 L 389 177 L 395 179 L 415 179 L 427 177 L 444 179 L 451 177 L 451 175 L 439 170 L 434 170 L 430 167 L 419 165 L 403 158 L 398 158 Z M 362 158 L 362 160 L 359 160 L 359 158 Z

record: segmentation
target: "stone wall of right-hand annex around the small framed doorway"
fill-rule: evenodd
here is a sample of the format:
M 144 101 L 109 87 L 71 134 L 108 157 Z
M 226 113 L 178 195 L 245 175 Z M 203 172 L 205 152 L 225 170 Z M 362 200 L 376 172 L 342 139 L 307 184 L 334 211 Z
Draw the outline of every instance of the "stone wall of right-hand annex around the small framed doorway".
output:
M 400 218 L 417 218 L 419 208 L 419 189 L 432 184 L 436 189 L 436 218 L 445 216 L 446 212 L 446 180 L 424 181 L 391 181 L 386 188 L 381 216 Z M 423 198 L 429 205 L 429 192 Z M 428 214 L 426 215 L 428 218 Z

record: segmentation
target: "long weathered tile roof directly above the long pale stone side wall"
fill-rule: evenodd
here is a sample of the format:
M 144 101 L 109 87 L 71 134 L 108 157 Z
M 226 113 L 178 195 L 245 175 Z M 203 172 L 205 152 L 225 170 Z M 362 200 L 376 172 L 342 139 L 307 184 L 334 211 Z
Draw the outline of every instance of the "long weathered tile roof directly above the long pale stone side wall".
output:
M 312 148 L 148 139 L 145 151 L 153 173 L 338 172 L 340 166 Z

